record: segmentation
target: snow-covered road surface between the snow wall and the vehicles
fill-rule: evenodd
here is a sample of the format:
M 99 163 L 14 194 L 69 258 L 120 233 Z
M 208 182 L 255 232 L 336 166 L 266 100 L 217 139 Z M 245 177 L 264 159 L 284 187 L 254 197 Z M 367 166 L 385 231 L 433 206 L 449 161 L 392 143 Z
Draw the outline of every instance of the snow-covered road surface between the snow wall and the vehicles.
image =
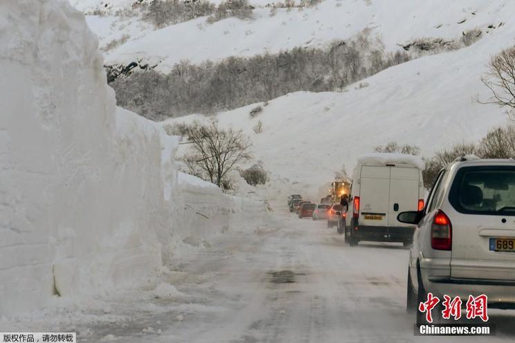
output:
M 54 328 L 73 328 L 79 342 L 435 341 L 413 336 L 404 310 L 408 250 L 399 245 L 350 248 L 325 221 L 285 210 L 262 228 L 210 243 L 134 294 L 58 313 Z M 163 282 L 181 295 L 156 299 L 152 289 Z M 515 314 L 490 315 L 497 335 L 487 340 L 512 340 Z M 51 327 L 34 320 L 30 328 Z

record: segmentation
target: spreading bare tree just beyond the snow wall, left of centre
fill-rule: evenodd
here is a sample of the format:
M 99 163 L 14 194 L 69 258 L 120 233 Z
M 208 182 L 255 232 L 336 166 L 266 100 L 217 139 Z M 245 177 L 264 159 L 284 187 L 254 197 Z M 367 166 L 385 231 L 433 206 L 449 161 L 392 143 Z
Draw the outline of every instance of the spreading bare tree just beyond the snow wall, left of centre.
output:
M 207 126 L 191 126 L 187 129 L 191 153 L 182 160 L 188 172 L 224 188 L 228 185 L 227 173 L 238 163 L 251 159 L 251 143 L 243 132 L 223 130 L 217 122 Z

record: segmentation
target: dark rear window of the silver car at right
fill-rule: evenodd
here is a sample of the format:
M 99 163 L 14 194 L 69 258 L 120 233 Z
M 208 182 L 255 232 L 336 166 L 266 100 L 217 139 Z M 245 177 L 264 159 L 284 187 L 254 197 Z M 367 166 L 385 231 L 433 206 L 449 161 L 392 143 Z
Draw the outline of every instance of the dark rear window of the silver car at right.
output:
M 464 214 L 515 216 L 515 167 L 462 167 L 449 202 Z

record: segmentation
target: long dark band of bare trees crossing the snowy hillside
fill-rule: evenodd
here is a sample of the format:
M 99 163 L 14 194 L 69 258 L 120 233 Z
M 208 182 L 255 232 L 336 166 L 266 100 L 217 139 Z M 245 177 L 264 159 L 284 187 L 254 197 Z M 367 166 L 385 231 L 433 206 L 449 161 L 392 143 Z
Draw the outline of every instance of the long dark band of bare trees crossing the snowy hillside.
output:
M 183 61 L 168 74 L 151 70 L 109 80 L 114 80 L 110 85 L 119 106 L 163 120 L 235 109 L 294 91 L 340 91 L 408 59 L 405 52 L 384 53 L 376 43 L 361 37 L 335 41 L 327 49 L 293 48 L 198 65 Z

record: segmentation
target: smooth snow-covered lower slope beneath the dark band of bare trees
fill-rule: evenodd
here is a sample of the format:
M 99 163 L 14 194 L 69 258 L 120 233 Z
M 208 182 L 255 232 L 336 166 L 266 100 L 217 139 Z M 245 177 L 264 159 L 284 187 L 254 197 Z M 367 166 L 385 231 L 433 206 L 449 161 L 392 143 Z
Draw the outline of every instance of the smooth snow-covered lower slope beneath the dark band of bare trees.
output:
M 489 91 L 480 81 L 489 56 L 515 44 L 515 23 L 462 50 L 400 64 L 348 87 L 343 93 L 291 93 L 270 101 L 251 119 L 256 105 L 219 113 L 224 126 L 243 129 L 254 143 L 255 157 L 285 192 L 318 196 L 318 187 L 345 165 L 375 146 L 396 140 L 419 145 L 422 154 L 455 142 L 475 141 L 495 125 L 505 124 L 503 109 L 478 104 Z M 261 104 L 262 105 L 262 104 Z M 208 120 L 201 115 L 168 120 Z M 254 133 L 260 120 L 262 133 Z M 287 189 L 287 191 L 286 191 Z

